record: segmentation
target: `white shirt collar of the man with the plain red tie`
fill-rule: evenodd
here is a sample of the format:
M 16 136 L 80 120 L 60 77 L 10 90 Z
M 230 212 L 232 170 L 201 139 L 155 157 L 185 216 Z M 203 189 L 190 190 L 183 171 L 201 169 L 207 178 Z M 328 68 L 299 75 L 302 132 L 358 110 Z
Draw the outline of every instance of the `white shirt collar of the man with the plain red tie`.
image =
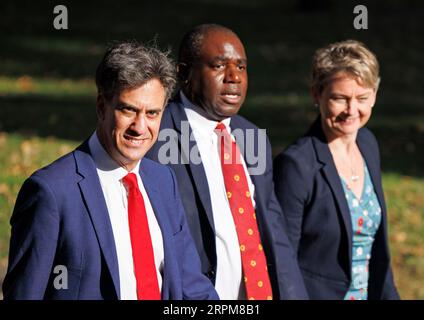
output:
M 102 176 L 111 180 L 121 180 L 128 174 L 128 171 L 116 163 L 103 148 L 97 136 L 97 131 L 91 135 L 88 140 L 88 146 L 90 147 L 96 168 Z M 137 162 L 137 165 L 131 172 L 138 175 L 139 169 L 140 161 Z

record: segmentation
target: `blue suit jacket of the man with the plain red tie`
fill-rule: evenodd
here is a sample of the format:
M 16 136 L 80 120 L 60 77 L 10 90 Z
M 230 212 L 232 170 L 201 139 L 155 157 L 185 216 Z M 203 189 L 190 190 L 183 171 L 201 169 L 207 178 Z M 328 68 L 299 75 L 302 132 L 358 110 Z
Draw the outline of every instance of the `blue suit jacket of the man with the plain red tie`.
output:
M 217 299 L 200 271 L 172 171 L 149 159 L 140 175 L 162 231 L 162 299 Z M 5 299 L 119 299 L 112 226 L 87 141 L 28 178 L 11 218 Z M 57 265 L 68 289 L 55 289 Z

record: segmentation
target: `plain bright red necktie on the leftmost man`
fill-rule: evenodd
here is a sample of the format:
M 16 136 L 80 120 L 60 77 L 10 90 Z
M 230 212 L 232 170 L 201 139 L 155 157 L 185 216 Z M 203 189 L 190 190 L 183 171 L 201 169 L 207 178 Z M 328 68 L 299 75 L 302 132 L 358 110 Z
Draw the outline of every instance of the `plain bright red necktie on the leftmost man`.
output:
M 138 300 L 160 300 L 152 239 L 143 196 L 134 173 L 128 173 L 123 181 L 128 188 L 128 222 L 137 281 L 137 298 Z

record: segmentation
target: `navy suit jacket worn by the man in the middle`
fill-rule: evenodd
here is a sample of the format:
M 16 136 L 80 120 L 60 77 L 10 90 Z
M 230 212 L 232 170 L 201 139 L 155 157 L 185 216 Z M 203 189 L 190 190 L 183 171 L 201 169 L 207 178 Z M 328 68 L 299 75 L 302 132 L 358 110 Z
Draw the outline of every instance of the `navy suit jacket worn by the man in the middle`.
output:
M 179 97 L 179 95 L 178 95 Z M 164 129 L 173 129 L 177 133 L 175 141 L 177 144 L 178 159 L 189 159 L 187 154 L 181 148 L 181 122 L 188 121 L 184 111 L 184 106 L 179 98 L 171 101 L 165 109 L 161 131 Z M 234 116 L 230 123 L 231 129 L 242 129 L 246 133 L 247 129 L 254 132 L 254 141 L 258 141 L 258 128 L 246 119 L 240 116 Z M 189 134 L 192 134 L 189 128 Z M 244 134 L 246 137 L 246 134 Z M 159 150 L 169 141 L 158 141 L 146 155 L 153 160 L 159 160 Z M 239 145 L 246 146 L 240 148 L 246 159 L 246 149 L 253 147 L 254 154 L 258 155 L 258 145 L 247 146 L 245 142 Z M 196 141 L 190 140 L 189 150 L 193 150 Z M 265 150 L 266 148 L 266 150 Z M 290 242 L 284 232 L 284 218 L 281 208 L 273 190 L 272 181 L 272 155 L 271 146 L 268 138 L 266 145 L 263 146 L 264 156 L 266 156 L 266 170 L 261 175 L 251 175 L 255 185 L 256 217 L 261 241 L 264 244 L 264 250 L 268 263 L 268 270 L 271 278 L 274 299 L 307 299 L 306 289 L 303 284 L 302 276 L 295 258 L 295 253 L 291 248 Z M 186 161 L 187 162 L 187 161 Z M 247 161 L 246 161 L 247 162 Z M 246 163 L 248 168 L 255 164 Z M 213 283 L 215 283 L 216 274 L 216 244 L 215 227 L 212 214 L 211 197 L 209 186 L 203 165 L 193 162 L 184 164 L 169 164 L 175 172 L 185 212 L 187 214 L 190 231 L 196 243 L 197 250 L 202 262 L 202 271 Z M 218 168 L 221 170 L 220 168 Z

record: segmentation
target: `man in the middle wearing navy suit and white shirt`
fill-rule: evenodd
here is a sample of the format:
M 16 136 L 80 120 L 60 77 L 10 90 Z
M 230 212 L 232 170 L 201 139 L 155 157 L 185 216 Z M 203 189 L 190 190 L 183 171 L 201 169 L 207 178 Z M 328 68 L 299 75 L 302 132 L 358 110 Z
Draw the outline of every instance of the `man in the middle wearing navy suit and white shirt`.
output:
M 214 132 L 218 124 L 225 126 L 240 148 L 249 187 L 246 197 L 255 208 L 259 248 L 265 252 L 264 268 L 272 286 L 267 299 L 305 299 L 273 191 L 270 143 L 263 131 L 237 115 L 247 91 L 246 68 L 243 44 L 232 30 L 215 24 L 190 30 L 180 45 L 177 65 L 182 90 L 168 104 L 158 142 L 146 156 L 174 170 L 202 271 L 220 298 L 250 298 L 244 271 L 250 266 L 242 261 L 245 246 L 239 243 Z

